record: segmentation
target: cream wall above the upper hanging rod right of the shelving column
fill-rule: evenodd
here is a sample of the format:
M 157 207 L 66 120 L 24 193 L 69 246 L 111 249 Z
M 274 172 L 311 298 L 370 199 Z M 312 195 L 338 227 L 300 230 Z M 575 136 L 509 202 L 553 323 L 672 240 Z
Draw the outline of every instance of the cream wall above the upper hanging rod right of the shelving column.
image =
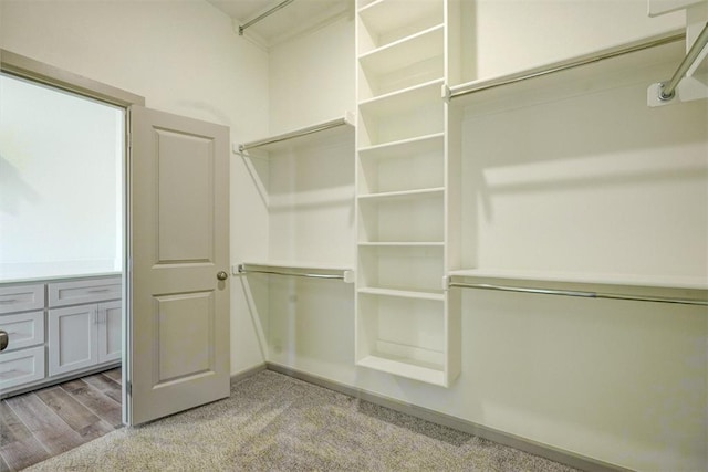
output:
M 648 18 L 647 0 L 465 1 L 467 80 L 490 78 L 684 28 L 677 11 Z M 471 75 L 471 76 L 470 76 Z

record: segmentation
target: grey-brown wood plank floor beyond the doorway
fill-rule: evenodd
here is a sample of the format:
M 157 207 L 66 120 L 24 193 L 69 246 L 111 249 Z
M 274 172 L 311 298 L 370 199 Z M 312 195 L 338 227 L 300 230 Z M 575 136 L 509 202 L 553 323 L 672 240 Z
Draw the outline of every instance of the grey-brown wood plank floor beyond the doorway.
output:
M 19 471 L 123 427 L 121 369 L 0 401 L 0 472 Z

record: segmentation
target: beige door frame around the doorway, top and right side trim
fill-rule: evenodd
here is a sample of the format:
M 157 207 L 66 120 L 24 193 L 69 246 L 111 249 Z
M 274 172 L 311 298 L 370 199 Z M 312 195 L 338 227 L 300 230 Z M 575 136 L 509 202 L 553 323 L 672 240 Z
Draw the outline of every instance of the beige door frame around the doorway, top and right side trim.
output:
M 129 153 L 131 153 L 131 113 L 132 105 L 145 106 L 145 97 L 116 88 L 114 86 L 87 78 L 83 75 L 74 74 L 73 72 L 64 71 L 60 67 L 45 64 L 31 57 L 27 57 L 21 54 L 17 54 L 12 51 L 0 49 L 0 72 L 6 74 L 29 80 L 34 83 L 48 85 L 54 88 L 60 88 L 76 95 L 81 95 L 87 98 L 92 98 L 98 102 L 103 102 L 108 105 L 117 106 L 124 109 L 125 123 L 124 123 L 124 153 L 123 153 L 123 422 L 129 423 L 129 416 L 127 411 L 127 395 L 128 386 L 126 379 L 126 361 L 129 346 L 131 346 L 131 329 L 128 316 L 132 306 L 129 304 L 131 286 L 129 286 Z

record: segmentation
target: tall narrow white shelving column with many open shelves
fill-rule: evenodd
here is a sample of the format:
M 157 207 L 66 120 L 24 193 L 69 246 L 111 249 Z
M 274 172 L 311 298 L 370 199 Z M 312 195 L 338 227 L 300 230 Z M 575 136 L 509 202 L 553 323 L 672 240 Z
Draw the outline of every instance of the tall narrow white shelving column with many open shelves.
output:
M 358 0 L 356 363 L 448 386 L 445 0 Z M 459 343 L 452 343 L 459 344 Z

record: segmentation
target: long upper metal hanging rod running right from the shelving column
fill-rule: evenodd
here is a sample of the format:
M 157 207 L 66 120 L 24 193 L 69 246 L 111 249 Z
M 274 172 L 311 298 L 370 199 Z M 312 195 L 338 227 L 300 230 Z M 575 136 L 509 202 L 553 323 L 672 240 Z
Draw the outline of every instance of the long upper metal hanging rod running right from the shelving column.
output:
M 451 98 L 458 98 L 465 95 L 500 87 L 503 85 L 516 84 L 518 82 L 528 81 L 530 78 L 542 77 L 545 75 L 554 74 L 556 72 L 568 71 L 571 69 L 581 67 L 583 65 L 593 64 L 595 62 L 618 57 L 625 54 L 631 54 L 665 44 L 670 44 L 677 41 L 683 41 L 684 39 L 686 39 L 685 32 L 671 34 L 668 36 L 655 36 L 644 41 L 632 42 L 618 48 L 607 49 L 598 53 L 586 54 L 566 61 L 554 62 L 543 67 L 523 71 L 518 74 L 503 75 L 501 77 L 491 78 L 488 81 L 470 82 L 468 84 L 461 84 L 447 88 L 445 98 L 449 102 Z

